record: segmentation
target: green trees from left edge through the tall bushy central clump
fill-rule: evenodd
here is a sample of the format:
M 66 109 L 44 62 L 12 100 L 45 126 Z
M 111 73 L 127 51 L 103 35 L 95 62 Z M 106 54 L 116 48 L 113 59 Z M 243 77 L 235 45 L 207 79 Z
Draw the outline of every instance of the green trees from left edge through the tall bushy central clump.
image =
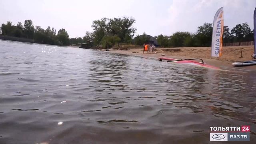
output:
M 110 48 L 115 44 L 132 42 L 132 37 L 136 32 L 133 24 L 134 18 L 102 18 L 92 22 L 92 32 L 86 32 L 83 38 L 69 38 L 68 32 L 62 28 L 56 33 L 56 29 L 43 29 L 41 26 L 34 26 L 32 20 L 25 20 L 24 25 L 21 22 L 13 25 L 8 21 L 2 24 L 0 32 L 4 36 L 14 36 L 18 38 L 34 39 L 34 42 L 41 44 L 69 45 L 86 43 L 89 46 L 102 45 L 104 48 Z

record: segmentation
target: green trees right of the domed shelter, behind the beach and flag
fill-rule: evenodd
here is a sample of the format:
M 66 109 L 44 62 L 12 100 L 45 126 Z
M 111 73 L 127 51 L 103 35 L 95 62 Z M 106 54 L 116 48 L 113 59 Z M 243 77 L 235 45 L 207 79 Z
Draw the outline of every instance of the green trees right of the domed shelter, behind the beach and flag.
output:
M 146 40 L 143 37 L 135 37 L 136 44 L 143 44 Z M 197 47 L 211 46 L 212 42 L 212 23 L 204 23 L 199 26 L 196 33 L 190 32 L 175 32 L 171 36 L 158 35 L 155 36 L 158 44 L 161 47 Z M 253 30 L 250 29 L 247 23 L 237 24 L 232 30 L 228 26 L 223 29 L 223 43 L 232 42 L 248 42 L 254 40 Z

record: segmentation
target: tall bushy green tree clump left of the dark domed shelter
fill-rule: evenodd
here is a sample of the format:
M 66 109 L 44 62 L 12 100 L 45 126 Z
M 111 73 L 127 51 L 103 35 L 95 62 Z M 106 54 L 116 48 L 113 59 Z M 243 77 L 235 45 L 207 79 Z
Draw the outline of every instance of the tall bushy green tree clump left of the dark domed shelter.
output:
M 92 32 L 86 32 L 83 38 L 71 38 L 70 43 L 86 43 L 89 46 L 102 45 L 103 48 L 111 48 L 115 44 L 130 44 L 136 28 L 134 18 L 102 18 L 92 22 Z

